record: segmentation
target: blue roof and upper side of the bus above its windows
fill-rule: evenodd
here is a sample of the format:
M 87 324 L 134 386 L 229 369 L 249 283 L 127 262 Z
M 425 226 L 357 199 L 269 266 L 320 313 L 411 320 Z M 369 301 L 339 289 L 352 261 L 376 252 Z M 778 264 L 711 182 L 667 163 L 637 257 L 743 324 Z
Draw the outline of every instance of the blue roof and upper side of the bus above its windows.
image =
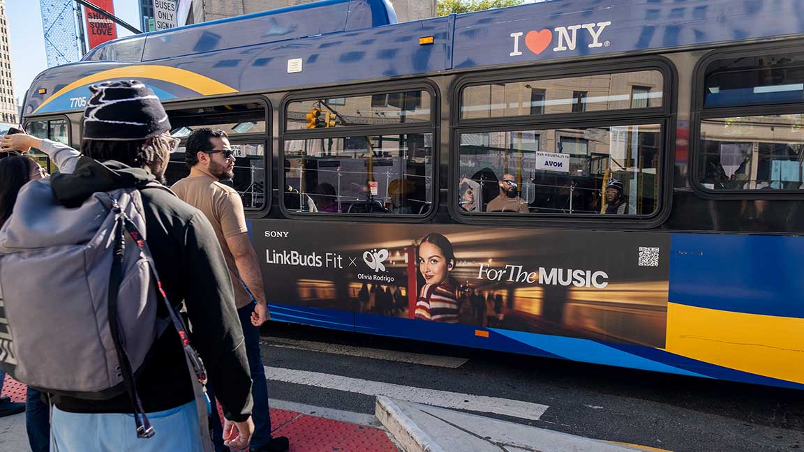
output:
M 395 22 L 388 0 L 323 0 L 117 39 L 40 74 L 23 112 L 81 109 L 103 80 L 140 79 L 167 101 L 780 39 L 804 33 L 804 10 L 798 0 L 554 0 Z

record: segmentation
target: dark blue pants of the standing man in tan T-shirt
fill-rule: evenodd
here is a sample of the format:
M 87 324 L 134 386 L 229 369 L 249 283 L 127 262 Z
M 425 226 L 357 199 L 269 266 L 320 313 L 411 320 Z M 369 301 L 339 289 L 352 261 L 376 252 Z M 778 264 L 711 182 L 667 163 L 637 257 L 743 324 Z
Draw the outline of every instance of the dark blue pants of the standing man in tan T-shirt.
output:
M 240 316 L 240 325 L 243 326 L 245 339 L 246 355 L 248 355 L 248 368 L 252 374 L 252 397 L 254 399 L 254 409 L 252 410 L 252 420 L 254 421 L 254 434 L 248 446 L 252 448 L 267 446 L 271 442 L 271 415 L 268 406 L 268 382 L 265 380 L 265 368 L 262 367 L 262 356 L 260 355 L 260 328 L 251 323 L 251 314 L 254 312 L 256 303 L 252 302 L 248 306 L 237 310 Z M 220 425 L 218 409 L 215 406 L 215 392 L 213 384 L 207 384 L 207 394 L 212 401 L 212 415 L 210 426 L 212 430 L 212 442 L 215 450 L 228 452 L 228 447 L 224 447 L 224 429 Z

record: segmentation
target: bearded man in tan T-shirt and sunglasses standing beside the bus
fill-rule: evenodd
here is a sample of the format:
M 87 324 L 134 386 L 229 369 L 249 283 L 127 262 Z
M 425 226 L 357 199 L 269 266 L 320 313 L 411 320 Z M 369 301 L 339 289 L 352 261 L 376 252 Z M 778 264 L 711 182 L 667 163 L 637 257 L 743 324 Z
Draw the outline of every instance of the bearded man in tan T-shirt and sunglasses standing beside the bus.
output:
M 190 175 L 170 187 L 184 202 L 199 209 L 212 224 L 224 252 L 235 303 L 243 326 L 248 366 L 252 376 L 254 434 L 249 449 L 252 452 L 288 449 L 288 438 L 271 438 L 271 418 L 268 406 L 268 384 L 260 357 L 260 325 L 270 318 L 265 301 L 260 263 L 248 238 L 248 228 L 240 194 L 221 180 L 234 177 L 235 156 L 228 135 L 220 129 L 195 129 L 187 138 L 185 161 Z M 215 382 L 212 381 L 210 388 Z M 214 397 L 212 390 L 208 391 Z M 215 449 L 224 449 L 224 432 L 220 429 L 218 411 L 212 409 L 212 432 Z

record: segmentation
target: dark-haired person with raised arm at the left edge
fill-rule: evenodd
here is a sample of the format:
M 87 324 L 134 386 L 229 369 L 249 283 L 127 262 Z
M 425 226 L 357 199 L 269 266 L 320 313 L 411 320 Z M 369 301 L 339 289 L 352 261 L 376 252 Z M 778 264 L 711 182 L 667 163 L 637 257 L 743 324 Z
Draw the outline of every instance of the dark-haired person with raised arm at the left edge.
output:
M 41 150 L 53 159 L 60 171 L 72 173 L 80 153 L 59 142 L 40 140 L 19 132 L 6 134 L 0 140 L 0 153 L 21 152 L 22 155 L 0 154 L 0 227 L 13 212 L 14 202 L 23 185 L 31 180 L 47 179 L 50 175 L 33 158 L 27 155 L 31 147 Z M 0 370 L 0 392 L 6 372 Z M 25 411 L 25 428 L 33 452 L 50 450 L 50 408 L 42 401 L 43 393 L 27 388 L 25 403 L 13 403 L 8 397 L 0 399 L 0 417 Z

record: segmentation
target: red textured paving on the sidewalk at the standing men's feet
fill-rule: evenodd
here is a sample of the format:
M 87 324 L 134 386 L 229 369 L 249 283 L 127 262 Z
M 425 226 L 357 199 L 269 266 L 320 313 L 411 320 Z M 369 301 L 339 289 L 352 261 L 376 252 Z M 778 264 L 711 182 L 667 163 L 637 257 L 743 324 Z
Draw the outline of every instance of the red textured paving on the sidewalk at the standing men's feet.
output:
M 6 376 L 2 396 L 24 402 L 25 390 L 25 384 Z M 274 436 L 290 438 L 290 452 L 397 452 L 384 430 L 366 425 L 273 408 L 271 424 Z

